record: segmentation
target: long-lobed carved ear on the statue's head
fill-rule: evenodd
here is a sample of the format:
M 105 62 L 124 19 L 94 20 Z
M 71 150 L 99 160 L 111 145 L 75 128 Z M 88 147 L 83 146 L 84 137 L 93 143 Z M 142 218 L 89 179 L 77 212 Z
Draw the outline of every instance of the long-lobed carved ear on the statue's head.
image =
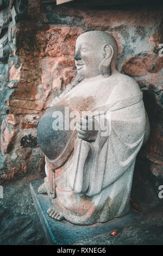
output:
M 109 76 L 110 64 L 114 54 L 114 49 L 110 44 L 104 44 L 102 46 L 102 53 L 103 53 L 104 59 L 99 65 L 99 70 L 103 76 Z

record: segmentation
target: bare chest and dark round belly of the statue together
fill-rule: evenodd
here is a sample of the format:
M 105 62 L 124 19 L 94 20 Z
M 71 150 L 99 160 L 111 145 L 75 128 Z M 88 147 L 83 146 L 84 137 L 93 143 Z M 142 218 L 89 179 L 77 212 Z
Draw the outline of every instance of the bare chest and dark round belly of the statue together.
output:
M 64 97 L 55 106 L 49 108 L 41 117 L 37 126 L 37 141 L 43 153 L 53 162 L 54 168 L 59 168 L 66 162 L 74 147 L 77 138 L 76 129 L 65 124 L 67 118 L 71 124 L 72 119 L 80 119 L 82 111 L 90 111 L 95 107 L 96 99 L 93 96 Z M 69 114 L 65 109 L 68 109 Z M 78 117 L 71 115 L 74 111 Z M 58 113 L 58 116 L 57 116 Z M 71 117 L 71 118 L 70 118 Z M 57 121 L 59 122 L 58 130 Z

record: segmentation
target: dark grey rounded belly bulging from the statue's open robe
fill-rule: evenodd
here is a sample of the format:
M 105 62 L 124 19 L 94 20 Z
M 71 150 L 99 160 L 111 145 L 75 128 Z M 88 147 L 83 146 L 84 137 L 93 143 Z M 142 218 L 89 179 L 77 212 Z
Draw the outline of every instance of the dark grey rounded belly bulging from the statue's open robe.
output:
M 37 141 L 49 161 L 53 162 L 54 168 L 59 168 L 65 163 L 73 150 L 77 136 L 76 129 L 65 130 L 65 107 L 70 113 L 73 111 L 66 101 L 60 101 L 42 115 L 37 126 Z

